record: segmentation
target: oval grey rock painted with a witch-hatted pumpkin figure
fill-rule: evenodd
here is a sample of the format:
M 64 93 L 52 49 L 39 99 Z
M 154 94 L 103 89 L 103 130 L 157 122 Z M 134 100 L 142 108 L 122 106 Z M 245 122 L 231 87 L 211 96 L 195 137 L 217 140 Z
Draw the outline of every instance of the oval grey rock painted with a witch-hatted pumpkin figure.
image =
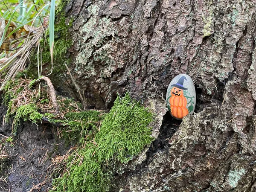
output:
M 178 120 L 195 111 L 195 85 L 186 74 L 172 79 L 166 93 L 166 103 L 171 115 Z

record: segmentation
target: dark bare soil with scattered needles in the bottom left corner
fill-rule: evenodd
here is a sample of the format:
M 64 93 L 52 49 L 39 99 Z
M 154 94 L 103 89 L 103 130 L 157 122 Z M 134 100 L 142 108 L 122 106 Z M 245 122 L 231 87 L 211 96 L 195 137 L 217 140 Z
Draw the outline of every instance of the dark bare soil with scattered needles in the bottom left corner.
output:
M 6 123 L 5 114 L 6 107 L 0 106 L 0 134 L 10 137 L 12 121 Z M 67 151 L 64 142 L 57 139 L 51 127 L 28 121 L 20 123 L 13 143 L 14 146 L 9 142 L 5 145 L 9 159 L 4 162 L 0 176 L 0 192 L 29 192 L 38 184 L 40 191 L 47 191 L 51 186 L 51 158 Z

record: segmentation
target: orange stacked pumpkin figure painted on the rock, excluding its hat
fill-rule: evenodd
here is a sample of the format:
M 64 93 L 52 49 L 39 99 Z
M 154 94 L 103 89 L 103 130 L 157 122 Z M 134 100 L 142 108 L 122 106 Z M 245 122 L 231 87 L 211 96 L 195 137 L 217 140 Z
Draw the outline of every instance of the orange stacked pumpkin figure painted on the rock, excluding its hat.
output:
M 186 108 L 187 100 L 186 97 L 183 96 L 183 90 L 177 87 L 172 87 L 171 95 L 169 102 L 172 115 L 177 119 L 182 119 L 189 114 L 189 111 Z

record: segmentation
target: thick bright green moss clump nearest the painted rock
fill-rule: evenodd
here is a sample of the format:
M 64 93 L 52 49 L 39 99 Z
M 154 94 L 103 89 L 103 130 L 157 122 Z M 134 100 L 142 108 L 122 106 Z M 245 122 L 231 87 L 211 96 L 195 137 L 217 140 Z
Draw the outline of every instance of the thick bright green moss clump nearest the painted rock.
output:
M 118 97 L 95 137 L 99 160 L 110 160 L 116 155 L 121 163 L 128 163 L 133 155 L 151 143 L 148 124 L 152 118 L 152 114 L 139 102 L 132 101 L 128 94 L 123 99 Z

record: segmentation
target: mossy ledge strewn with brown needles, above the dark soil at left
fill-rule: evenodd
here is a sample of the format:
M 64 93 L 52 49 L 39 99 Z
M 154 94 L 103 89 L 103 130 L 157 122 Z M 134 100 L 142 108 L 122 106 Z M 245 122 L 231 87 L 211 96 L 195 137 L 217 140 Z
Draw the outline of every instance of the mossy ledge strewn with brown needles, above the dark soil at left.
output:
M 41 84 L 32 87 L 35 82 L 32 79 L 17 79 L 10 80 L 3 87 L 3 104 L 8 106 L 6 113 L 6 121 L 13 117 L 13 134 L 17 131 L 20 120 L 31 121 L 32 123 L 40 123 L 45 119 L 51 123 L 58 123 L 61 127 L 69 127 L 68 130 L 74 131 L 74 135 L 84 133 L 93 122 L 99 122 L 99 112 L 86 111 L 80 113 L 79 104 L 73 99 L 57 97 L 58 105 L 60 106 L 61 115 L 55 116 L 52 111 L 51 98 L 48 98 L 47 86 Z M 62 128 L 64 131 L 65 129 Z M 65 136 L 66 134 L 64 134 Z M 71 136 L 70 136 L 71 135 Z M 68 137 L 72 139 L 72 134 Z

